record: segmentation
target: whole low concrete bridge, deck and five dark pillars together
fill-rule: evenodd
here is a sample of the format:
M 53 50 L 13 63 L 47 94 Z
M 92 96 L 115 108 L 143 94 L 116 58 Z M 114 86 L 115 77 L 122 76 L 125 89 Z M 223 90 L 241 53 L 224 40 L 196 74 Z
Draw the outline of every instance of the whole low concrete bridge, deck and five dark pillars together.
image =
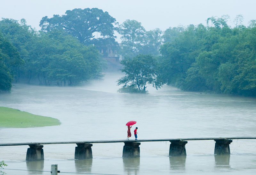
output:
M 214 154 L 230 154 L 229 144 L 234 139 L 256 139 L 256 137 L 206 137 L 206 138 L 178 138 L 178 139 L 140 139 L 140 140 L 99 140 L 99 141 L 72 141 L 72 142 L 28 142 L 28 143 L 1 143 L 0 146 L 28 145 L 26 161 L 44 160 L 43 147 L 46 144 L 76 144 L 75 159 L 92 158 L 92 143 L 124 142 L 123 158 L 140 157 L 140 142 L 169 141 L 169 156 L 186 156 L 185 145 L 192 140 L 214 140 Z

